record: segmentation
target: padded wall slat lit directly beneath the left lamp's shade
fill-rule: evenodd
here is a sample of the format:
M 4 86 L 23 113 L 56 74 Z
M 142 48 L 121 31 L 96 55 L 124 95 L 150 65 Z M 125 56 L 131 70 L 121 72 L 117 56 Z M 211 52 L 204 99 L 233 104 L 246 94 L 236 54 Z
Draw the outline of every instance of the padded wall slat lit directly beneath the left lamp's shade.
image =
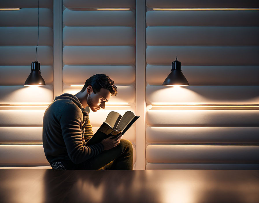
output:
M 0 86 L 0 104 L 51 103 L 53 101 L 52 86 Z

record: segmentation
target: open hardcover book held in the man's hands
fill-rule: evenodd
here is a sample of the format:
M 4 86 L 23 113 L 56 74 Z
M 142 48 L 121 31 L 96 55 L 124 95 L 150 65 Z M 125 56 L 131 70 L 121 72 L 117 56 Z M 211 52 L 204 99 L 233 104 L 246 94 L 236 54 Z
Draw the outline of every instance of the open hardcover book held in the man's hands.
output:
M 88 140 L 87 145 L 97 144 L 102 140 L 115 136 L 119 133 L 122 135 L 129 129 L 130 126 L 139 118 L 132 111 L 127 111 L 123 116 L 118 112 L 111 111 L 106 120 L 103 122 L 97 132 Z

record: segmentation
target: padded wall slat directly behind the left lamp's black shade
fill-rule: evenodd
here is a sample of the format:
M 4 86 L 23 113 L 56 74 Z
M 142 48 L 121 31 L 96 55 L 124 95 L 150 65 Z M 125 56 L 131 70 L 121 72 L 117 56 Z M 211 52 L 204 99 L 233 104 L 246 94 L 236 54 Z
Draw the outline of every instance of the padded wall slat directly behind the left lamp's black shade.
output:
M 31 71 L 31 65 L 0 65 L 0 85 L 23 85 Z M 46 85 L 53 82 L 53 67 L 40 66 L 41 76 Z

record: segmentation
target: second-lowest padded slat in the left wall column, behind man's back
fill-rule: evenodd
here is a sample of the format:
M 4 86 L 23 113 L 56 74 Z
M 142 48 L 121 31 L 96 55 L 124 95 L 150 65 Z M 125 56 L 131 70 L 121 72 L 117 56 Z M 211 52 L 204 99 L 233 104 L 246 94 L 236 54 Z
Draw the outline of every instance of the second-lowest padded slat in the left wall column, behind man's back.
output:
M 42 143 L 42 127 L 0 127 L 0 143 Z

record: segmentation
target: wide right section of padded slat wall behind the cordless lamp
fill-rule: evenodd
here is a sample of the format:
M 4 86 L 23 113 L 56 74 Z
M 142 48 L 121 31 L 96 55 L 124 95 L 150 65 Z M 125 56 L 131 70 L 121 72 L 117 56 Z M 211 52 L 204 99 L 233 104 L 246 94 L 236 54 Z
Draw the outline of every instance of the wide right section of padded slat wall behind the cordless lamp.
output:
M 146 169 L 258 169 L 259 12 L 227 10 L 258 2 L 146 5 Z M 176 56 L 190 86 L 162 86 Z

